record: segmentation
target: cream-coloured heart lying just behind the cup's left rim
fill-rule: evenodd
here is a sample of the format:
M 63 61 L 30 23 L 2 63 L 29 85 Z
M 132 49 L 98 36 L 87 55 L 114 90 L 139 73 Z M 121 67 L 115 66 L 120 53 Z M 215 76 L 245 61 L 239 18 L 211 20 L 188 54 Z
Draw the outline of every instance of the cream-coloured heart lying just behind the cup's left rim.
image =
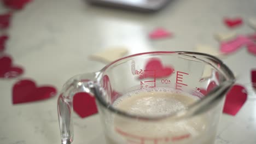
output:
M 115 47 L 112 49 L 107 49 L 106 51 L 95 53 L 91 55 L 90 58 L 95 61 L 110 63 L 123 57 L 127 52 L 128 50 L 125 47 Z

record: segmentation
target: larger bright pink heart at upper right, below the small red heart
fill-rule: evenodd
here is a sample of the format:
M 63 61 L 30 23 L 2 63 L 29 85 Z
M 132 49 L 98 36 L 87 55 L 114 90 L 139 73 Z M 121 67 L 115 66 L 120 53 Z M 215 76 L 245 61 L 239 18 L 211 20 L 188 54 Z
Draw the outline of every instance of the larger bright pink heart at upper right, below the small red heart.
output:
M 240 49 L 243 45 L 252 44 L 253 41 L 243 35 L 238 35 L 234 40 L 220 44 L 220 52 L 232 53 Z

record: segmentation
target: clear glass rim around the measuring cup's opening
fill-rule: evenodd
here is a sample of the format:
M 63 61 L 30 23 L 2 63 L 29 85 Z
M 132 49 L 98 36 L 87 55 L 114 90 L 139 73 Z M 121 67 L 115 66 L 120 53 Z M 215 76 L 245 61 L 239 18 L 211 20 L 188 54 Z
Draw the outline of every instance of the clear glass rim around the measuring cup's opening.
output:
M 119 62 L 123 62 L 125 60 L 129 61 L 129 59 L 133 58 L 133 57 L 143 56 L 143 55 L 144 56 L 146 56 L 146 55 L 161 55 L 161 54 L 174 54 L 174 55 L 185 55 L 185 54 L 191 55 L 191 54 L 193 54 L 193 55 L 196 55 L 196 56 L 205 56 L 205 57 L 212 58 L 212 59 L 214 59 L 214 61 L 218 62 L 219 69 L 224 70 L 224 72 L 226 73 L 226 79 L 227 80 L 225 80 L 223 82 L 220 82 L 220 85 L 213 88 L 210 93 L 205 95 L 205 97 L 203 97 L 202 99 L 200 99 L 200 100 L 196 101 L 195 103 L 189 105 L 188 109 L 178 110 L 176 112 L 167 113 L 166 115 L 161 115 L 161 116 L 143 116 L 143 115 L 136 115 L 136 114 L 131 114 L 129 112 L 121 111 L 121 110 L 113 107 L 112 105 L 109 105 L 107 103 L 107 101 L 104 100 L 103 97 L 101 97 L 100 92 L 97 91 L 98 88 L 95 88 L 96 89 L 95 97 L 96 97 L 97 101 L 100 103 L 100 105 L 102 105 L 105 109 L 109 110 L 110 112 L 115 113 L 116 115 L 124 116 L 124 117 L 127 117 L 127 118 L 141 119 L 141 120 L 146 120 L 146 121 L 160 121 L 160 120 L 166 119 L 166 118 L 185 118 L 185 117 L 195 116 L 195 114 L 198 114 L 196 111 L 198 111 L 200 109 L 200 107 L 202 107 L 202 103 L 205 103 L 205 106 L 207 106 L 207 104 L 210 105 L 210 103 L 212 103 L 212 102 L 219 102 L 220 98 L 224 97 L 225 92 L 228 91 L 228 89 L 235 82 L 234 74 L 220 59 L 218 59 L 217 57 L 208 55 L 206 53 L 190 52 L 190 51 L 153 51 L 153 52 L 137 53 L 135 55 L 130 55 L 130 56 L 127 56 L 127 57 L 117 59 L 116 61 L 111 62 L 108 65 L 106 65 L 104 68 L 102 68 L 98 72 L 103 74 L 104 71 L 106 71 L 112 65 L 117 64 Z M 196 58 L 196 57 L 193 56 L 193 58 Z M 202 59 L 197 59 L 197 60 L 200 61 L 200 62 L 206 63 Z M 212 61 L 212 60 L 210 59 L 210 61 Z M 222 72 L 222 71 L 220 71 L 220 72 Z M 102 77 L 100 77 L 100 81 L 101 81 L 101 79 L 102 79 Z M 98 83 L 98 87 L 101 88 L 99 83 Z M 222 92 L 222 93 L 221 94 L 216 94 L 217 92 Z M 214 103 L 214 104 L 216 104 L 216 103 Z M 191 113 L 191 110 L 192 111 L 194 110 L 194 111 Z

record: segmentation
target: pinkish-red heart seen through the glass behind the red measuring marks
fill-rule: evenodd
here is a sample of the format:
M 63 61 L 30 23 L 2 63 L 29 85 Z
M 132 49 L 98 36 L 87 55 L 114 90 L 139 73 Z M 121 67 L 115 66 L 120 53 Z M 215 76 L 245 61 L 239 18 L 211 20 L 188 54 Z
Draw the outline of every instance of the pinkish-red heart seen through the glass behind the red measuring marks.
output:
M 154 72 L 154 73 L 153 73 Z M 162 62 L 159 58 L 150 58 L 146 64 L 144 69 L 143 76 L 140 78 L 147 78 L 147 77 L 167 77 L 174 73 L 174 68 L 170 65 L 162 65 Z

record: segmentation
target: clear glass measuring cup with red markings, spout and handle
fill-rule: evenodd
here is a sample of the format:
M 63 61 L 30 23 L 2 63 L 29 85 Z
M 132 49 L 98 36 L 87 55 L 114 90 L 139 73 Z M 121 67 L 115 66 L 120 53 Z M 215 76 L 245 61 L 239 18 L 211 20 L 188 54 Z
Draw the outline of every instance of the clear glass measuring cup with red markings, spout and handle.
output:
M 208 77 L 202 77 L 205 68 L 211 68 Z M 107 144 L 214 143 L 224 95 L 234 82 L 222 61 L 204 53 L 147 52 L 118 59 L 63 86 L 57 106 L 62 144 L 73 141 L 72 100 L 79 92 L 96 98 Z M 182 110 L 150 116 L 114 105 L 127 93 L 156 91 L 186 93 L 196 100 Z

